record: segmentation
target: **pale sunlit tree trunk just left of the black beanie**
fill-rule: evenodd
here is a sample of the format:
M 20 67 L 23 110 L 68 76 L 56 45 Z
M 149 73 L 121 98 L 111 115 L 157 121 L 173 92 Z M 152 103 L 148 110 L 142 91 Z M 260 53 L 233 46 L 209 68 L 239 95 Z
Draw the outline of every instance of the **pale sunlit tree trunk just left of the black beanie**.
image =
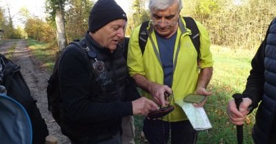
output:
M 61 51 L 66 48 L 67 40 L 64 26 L 65 24 L 60 10 L 56 11 L 55 21 L 57 25 L 57 44 L 59 46 L 59 51 Z

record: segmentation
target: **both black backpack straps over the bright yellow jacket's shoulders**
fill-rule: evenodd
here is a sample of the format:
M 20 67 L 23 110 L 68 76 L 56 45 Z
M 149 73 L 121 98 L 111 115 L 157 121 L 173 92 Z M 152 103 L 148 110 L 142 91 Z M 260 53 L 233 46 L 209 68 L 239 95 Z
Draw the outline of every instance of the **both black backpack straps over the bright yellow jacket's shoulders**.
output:
M 186 22 L 186 27 L 192 31 L 192 35 L 190 35 L 190 39 L 192 40 L 193 45 L 197 50 L 197 60 L 199 60 L 199 55 L 200 55 L 199 29 L 193 18 L 188 16 L 187 17 L 184 16 L 183 18 L 184 18 L 184 21 Z M 145 21 L 144 23 L 142 23 L 139 30 L 139 47 L 141 49 L 142 54 L 145 51 L 146 43 L 148 40 L 148 31 L 146 29 L 146 27 L 148 27 L 148 22 L 149 21 Z

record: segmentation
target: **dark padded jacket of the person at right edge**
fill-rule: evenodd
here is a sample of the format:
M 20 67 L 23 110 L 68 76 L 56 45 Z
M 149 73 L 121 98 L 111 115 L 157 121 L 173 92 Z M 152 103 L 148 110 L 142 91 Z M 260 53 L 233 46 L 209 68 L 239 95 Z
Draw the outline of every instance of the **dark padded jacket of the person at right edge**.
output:
M 276 18 L 252 62 L 252 70 L 243 93 L 257 108 L 253 128 L 255 143 L 276 143 Z

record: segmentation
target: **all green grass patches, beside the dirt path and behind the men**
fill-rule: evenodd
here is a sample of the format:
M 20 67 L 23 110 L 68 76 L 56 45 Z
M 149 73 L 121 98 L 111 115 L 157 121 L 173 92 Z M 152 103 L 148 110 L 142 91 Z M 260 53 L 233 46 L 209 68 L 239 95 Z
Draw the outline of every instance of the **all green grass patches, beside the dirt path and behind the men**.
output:
M 32 53 L 43 63 L 43 67 L 50 70 L 55 62 L 57 47 L 52 43 L 43 44 L 35 40 L 28 40 Z M 199 132 L 198 144 L 232 144 L 237 143 L 235 125 L 230 123 L 226 115 L 228 100 L 234 93 L 242 93 L 246 86 L 246 79 L 251 69 L 250 61 L 255 50 L 236 49 L 213 45 L 214 72 L 208 86 L 213 93 L 208 97 L 204 109 L 213 128 Z M 251 129 L 255 123 L 254 113 L 248 116 L 244 125 L 244 143 L 253 143 Z M 136 144 L 144 144 L 141 136 L 144 117 L 135 116 Z

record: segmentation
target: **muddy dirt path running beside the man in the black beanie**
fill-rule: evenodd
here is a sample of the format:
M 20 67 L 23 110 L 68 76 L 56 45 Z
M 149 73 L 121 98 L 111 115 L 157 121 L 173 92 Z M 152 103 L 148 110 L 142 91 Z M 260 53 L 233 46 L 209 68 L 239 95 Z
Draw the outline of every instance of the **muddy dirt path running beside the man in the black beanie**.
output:
M 49 134 L 57 137 L 59 144 L 68 144 L 70 140 L 61 134 L 59 125 L 53 120 L 51 113 L 48 111 L 46 99 L 47 80 L 50 73 L 43 71 L 39 67 L 39 62 L 31 55 L 28 50 L 26 40 L 9 40 L 0 45 L 0 53 L 7 55 L 7 50 L 16 45 L 14 53 L 12 54 L 12 61 L 21 66 L 21 73 L 25 78 L 32 96 L 37 99 L 37 106 L 41 112 L 43 119 L 45 119 L 48 126 Z

